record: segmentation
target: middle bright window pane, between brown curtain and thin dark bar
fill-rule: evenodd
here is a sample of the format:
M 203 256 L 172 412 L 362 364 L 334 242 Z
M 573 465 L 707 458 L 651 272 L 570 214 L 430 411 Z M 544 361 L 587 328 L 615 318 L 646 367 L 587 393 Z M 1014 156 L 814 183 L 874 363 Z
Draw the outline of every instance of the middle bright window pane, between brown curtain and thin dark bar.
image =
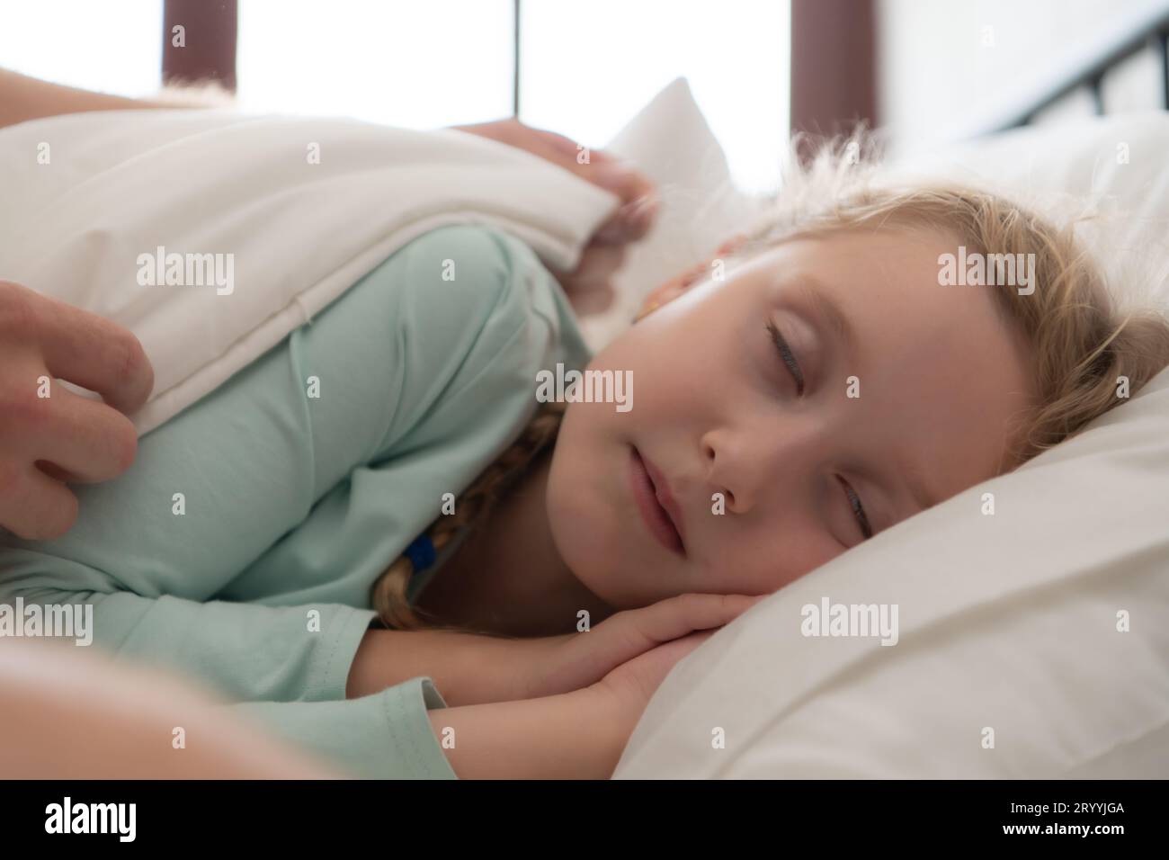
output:
M 240 0 L 245 110 L 415 129 L 512 111 L 511 0 Z

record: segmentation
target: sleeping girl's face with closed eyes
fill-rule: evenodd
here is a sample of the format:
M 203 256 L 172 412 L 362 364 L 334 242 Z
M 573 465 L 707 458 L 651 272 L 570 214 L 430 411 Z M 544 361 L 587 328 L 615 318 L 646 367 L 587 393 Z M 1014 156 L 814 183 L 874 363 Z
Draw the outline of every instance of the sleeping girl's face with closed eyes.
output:
M 879 532 L 999 474 L 1009 421 L 1030 403 L 1025 352 L 994 288 L 939 285 L 938 257 L 957 245 L 892 231 L 791 241 L 600 352 L 588 369 L 630 371 L 632 408 L 565 415 L 547 504 L 573 572 L 617 608 L 767 593 L 863 541 L 841 477 Z M 839 310 L 848 344 L 812 295 Z M 638 502 L 635 449 L 669 484 L 680 549 L 660 511 L 657 528 L 645 521 L 656 505 Z

